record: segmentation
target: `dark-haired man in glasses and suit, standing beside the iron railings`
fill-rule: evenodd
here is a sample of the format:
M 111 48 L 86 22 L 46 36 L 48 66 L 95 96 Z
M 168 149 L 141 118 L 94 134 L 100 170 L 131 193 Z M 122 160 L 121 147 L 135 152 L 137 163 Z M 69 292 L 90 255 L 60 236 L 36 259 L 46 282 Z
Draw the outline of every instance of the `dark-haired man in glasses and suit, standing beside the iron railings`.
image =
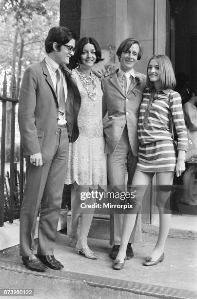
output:
M 79 135 L 77 85 L 62 67 L 69 64 L 75 40 L 66 27 L 50 29 L 47 56 L 24 73 L 19 97 L 19 127 L 26 159 L 26 185 L 20 213 L 20 256 L 34 271 L 62 269 L 54 257 L 69 142 Z M 41 203 L 41 206 L 40 206 Z M 39 216 L 37 256 L 34 242 Z

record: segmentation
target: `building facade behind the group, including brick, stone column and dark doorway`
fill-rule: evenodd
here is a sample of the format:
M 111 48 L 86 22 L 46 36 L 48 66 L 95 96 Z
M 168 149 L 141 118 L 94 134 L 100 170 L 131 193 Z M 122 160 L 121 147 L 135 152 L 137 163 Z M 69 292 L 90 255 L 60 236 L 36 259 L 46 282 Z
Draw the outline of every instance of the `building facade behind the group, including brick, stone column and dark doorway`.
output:
M 197 84 L 197 0 L 60 0 L 60 25 L 73 30 L 77 39 L 94 37 L 106 70 L 118 67 L 119 43 L 134 37 L 144 48 L 136 64 L 139 72 L 146 73 L 152 55 L 166 54 L 177 81 Z M 145 222 L 154 222 L 153 197 L 147 195 Z

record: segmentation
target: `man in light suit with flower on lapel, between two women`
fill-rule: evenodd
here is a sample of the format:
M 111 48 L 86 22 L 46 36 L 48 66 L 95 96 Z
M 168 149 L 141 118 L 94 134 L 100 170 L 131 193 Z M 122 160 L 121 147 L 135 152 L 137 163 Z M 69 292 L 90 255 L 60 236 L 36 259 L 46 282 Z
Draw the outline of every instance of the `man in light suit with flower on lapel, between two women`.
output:
M 128 182 L 131 184 L 138 160 L 138 115 L 146 76 L 137 72 L 134 65 L 142 56 L 139 42 L 128 38 L 118 47 L 120 68 L 103 80 L 105 96 L 103 115 L 108 112 L 104 125 L 105 152 L 107 153 L 107 173 L 111 191 L 125 192 L 125 161 L 127 160 Z M 123 214 L 114 210 L 110 215 L 110 256 L 118 255 Z M 132 242 L 141 240 L 141 215 L 127 245 L 126 258 L 133 257 Z

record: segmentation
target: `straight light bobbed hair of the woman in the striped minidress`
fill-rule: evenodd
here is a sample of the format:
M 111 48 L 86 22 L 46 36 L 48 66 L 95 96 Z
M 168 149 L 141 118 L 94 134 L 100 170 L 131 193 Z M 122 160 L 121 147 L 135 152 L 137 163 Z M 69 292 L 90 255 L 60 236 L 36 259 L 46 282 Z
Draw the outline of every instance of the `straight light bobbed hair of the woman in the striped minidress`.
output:
M 170 58 L 167 55 L 154 55 L 147 65 L 147 85 L 150 89 L 154 88 L 154 83 L 150 81 L 148 76 L 148 66 L 151 60 L 155 59 L 159 65 L 161 87 L 160 89 L 175 88 L 176 79 Z

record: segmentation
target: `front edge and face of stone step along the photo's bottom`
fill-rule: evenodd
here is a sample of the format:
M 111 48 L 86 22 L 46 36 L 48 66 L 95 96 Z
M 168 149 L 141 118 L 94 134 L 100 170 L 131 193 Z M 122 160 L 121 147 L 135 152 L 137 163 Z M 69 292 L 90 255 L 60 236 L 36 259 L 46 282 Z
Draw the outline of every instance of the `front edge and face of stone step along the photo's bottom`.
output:
M 3 279 L 3 280 L 2 280 Z M 33 272 L 0 259 L 1 288 L 33 289 L 35 299 L 196 299 L 197 292 L 70 271 Z M 7 297 L 6 297 L 7 298 Z M 9 298 L 9 297 L 8 297 Z M 27 298 L 27 297 L 21 297 Z M 29 298 L 29 296 L 28 296 Z

